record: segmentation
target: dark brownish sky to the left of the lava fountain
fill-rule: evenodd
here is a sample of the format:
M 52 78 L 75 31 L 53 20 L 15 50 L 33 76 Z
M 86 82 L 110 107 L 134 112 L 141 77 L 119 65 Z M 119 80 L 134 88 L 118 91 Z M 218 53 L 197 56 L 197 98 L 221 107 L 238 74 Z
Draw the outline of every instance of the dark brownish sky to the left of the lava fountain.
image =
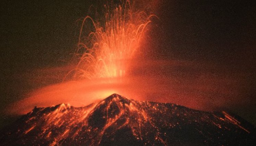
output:
M 86 16 L 85 1 L 1 1 L 1 98 L 17 99 L 25 90 L 17 75 L 33 69 L 62 66 L 70 60 L 78 38 L 78 20 Z M 19 87 L 17 87 L 19 86 Z M 14 88 L 14 89 L 13 89 Z

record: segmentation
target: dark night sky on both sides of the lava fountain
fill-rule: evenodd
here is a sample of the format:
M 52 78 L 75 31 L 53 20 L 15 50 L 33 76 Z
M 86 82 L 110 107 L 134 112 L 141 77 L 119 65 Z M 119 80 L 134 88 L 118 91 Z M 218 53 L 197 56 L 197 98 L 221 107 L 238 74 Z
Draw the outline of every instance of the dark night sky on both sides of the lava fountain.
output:
M 92 4 L 96 5 L 94 0 L 0 2 L 1 110 L 33 89 L 61 82 L 67 69 L 47 72 L 45 68 L 69 64 L 81 19 L 88 15 Z M 255 2 L 163 0 L 145 4 L 159 17 L 154 19 L 149 41 L 145 42 L 150 48 L 146 52 L 148 58 L 190 62 L 193 65 L 179 72 L 237 83 L 238 88 L 230 89 L 235 90 L 235 98 L 227 98 L 244 102 L 231 104 L 227 109 L 255 124 Z M 44 81 L 38 76 L 54 76 L 54 80 Z M 0 123 L 4 121 L 0 119 Z

